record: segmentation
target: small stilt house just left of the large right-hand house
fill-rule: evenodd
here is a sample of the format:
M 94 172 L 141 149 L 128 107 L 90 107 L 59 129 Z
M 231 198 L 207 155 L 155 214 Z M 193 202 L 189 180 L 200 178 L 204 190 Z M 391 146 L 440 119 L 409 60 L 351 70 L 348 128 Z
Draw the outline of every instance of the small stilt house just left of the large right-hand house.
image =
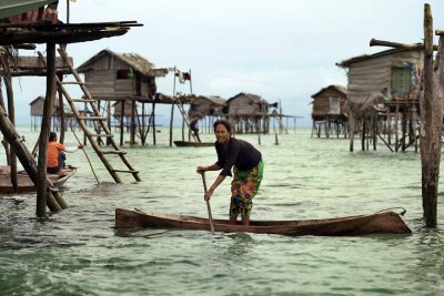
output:
M 346 88 L 342 85 L 329 85 L 312 95 L 313 132 L 321 136 L 322 129 L 325 135 L 331 132 L 339 135 L 346 131 Z M 312 133 L 313 135 L 313 133 Z

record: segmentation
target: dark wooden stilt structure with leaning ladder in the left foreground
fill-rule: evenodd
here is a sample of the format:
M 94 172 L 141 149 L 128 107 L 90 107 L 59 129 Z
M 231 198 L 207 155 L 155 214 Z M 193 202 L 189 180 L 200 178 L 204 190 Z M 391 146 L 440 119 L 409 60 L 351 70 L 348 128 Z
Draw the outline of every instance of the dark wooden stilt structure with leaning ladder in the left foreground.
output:
M 69 1 L 67 1 L 69 6 Z M 69 11 L 69 8 L 67 8 Z M 75 118 L 79 126 L 83 130 L 94 152 L 115 182 L 122 182 L 119 173 L 129 173 L 137 181 L 140 181 L 139 172 L 134 170 L 125 153 L 120 150 L 113 141 L 113 136 L 101 116 L 97 100 L 89 93 L 85 83 L 72 65 L 72 59 L 67 54 L 67 47 L 73 42 L 93 41 L 102 38 L 122 35 L 131 27 L 138 27 L 135 21 L 107 22 L 107 23 L 70 23 L 69 13 L 67 21 L 59 21 L 58 1 L 53 0 L 16 0 L 0 3 L 0 70 L 2 90 L 0 91 L 0 131 L 4 137 L 4 147 L 8 160 L 8 176 L 12 192 L 19 192 L 20 180 L 18 177 L 18 163 L 20 161 L 28 178 L 34 184 L 37 191 L 37 215 L 44 216 L 47 207 L 51 212 L 59 212 L 68 205 L 59 191 L 54 187 L 49 175 L 47 175 L 47 149 L 49 132 L 51 129 L 51 116 L 57 106 L 58 94 L 59 106 L 64 106 L 65 100 Z M 38 43 L 46 44 L 46 57 L 39 51 L 38 57 L 18 58 L 18 50 L 34 50 Z M 59 48 L 57 49 L 57 44 Z M 59 52 L 59 58 L 57 57 Z M 73 81 L 63 81 L 63 74 L 69 73 Z M 38 143 L 34 146 L 36 153 L 31 153 L 23 136 L 14 126 L 14 96 L 11 80 L 18 75 L 44 75 L 47 78 L 47 93 L 42 106 L 42 114 L 39 112 L 40 100 L 34 102 L 36 115 L 41 114 L 41 129 Z M 71 98 L 64 84 L 74 84 L 84 93 L 83 98 Z M 3 85 L 8 104 L 3 99 Z M 92 113 L 79 112 L 75 103 L 89 104 Z M 7 106 L 7 108 L 6 108 Z M 60 123 L 64 124 L 64 108 L 59 108 Z M 87 120 L 94 121 L 94 126 L 100 126 L 100 136 L 110 141 L 111 149 L 103 151 L 95 141 L 87 124 Z M 61 126 L 64 132 L 64 126 Z M 61 141 L 62 141 L 61 133 Z M 38 153 L 37 153 L 38 152 Z M 107 155 L 118 156 L 119 164 L 112 163 Z M 36 160 L 36 156 L 37 160 Z M 124 166 L 122 169 L 122 166 Z

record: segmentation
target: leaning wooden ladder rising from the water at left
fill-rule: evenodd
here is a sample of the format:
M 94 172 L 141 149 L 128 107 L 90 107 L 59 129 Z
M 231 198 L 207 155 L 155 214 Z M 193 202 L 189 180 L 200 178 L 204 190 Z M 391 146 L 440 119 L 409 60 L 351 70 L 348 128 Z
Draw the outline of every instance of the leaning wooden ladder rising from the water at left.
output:
M 84 134 L 87 135 L 89 142 L 91 143 L 91 146 L 94 149 L 97 155 L 100 157 L 102 161 L 103 165 L 107 167 L 108 172 L 110 175 L 114 178 L 115 183 L 122 183 L 120 176 L 118 173 L 131 173 L 135 181 L 141 181 L 139 177 L 139 172 L 134 170 L 134 167 L 131 165 L 129 160 L 127 159 L 127 152 L 121 151 L 119 149 L 119 145 L 115 144 L 115 141 L 113 140 L 113 134 L 111 133 L 109 126 L 107 125 L 107 118 L 101 116 L 100 110 L 97 105 L 97 100 L 92 98 L 90 92 L 88 91 L 85 83 L 82 81 L 80 78 L 79 73 L 75 71 L 73 65 L 71 64 L 69 57 L 67 52 L 59 48 L 58 49 L 60 57 L 63 59 L 63 62 L 68 67 L 68 69 L 71 71 L 72 75 L 74 76 L 75 81 L 73 82 L 62 82 L 58 76 L 56 76 L 57 84 L 59 89 L 61 90 L 63 96 L 67 99 L 67 102 L 69 103 L 72 113 L 74 114 L 74 118 L 77 119 L 80 127 L 83 130 Z M 40 59 L 44 63 L 44 58 L 39 52 Z M 67 89 L 63 86 L 64 84 L 77 84 L 80 86 L 80 89 L 83 92 L 83 98 L 82 99 L 72 99 L 70 94 L 68 93 Z M 75 102 L 82 102 L 85 104 L 89 104 L 92 109 L 93 115 L 87 116 L 87 114 L 81 115 L 79 110 L 77 109 Z M 62 106 L 61 106 L 62 108 Z M 92 120 L 99 124 L 99 131 L 102 131 L 103 133 L 99 134 L 92 134 L 85 123 L 87 120 Z M 105 137 L 109 139 L 109 143 L 111 144 L 113 150 L 109 151 L 102 151 L 98 142 L 95 141 L 97 137 Z M 107 155 L 119 155 L 120 160 L 124 163 L 128 170 L 115 170 L 109 160 L 107 159 Z

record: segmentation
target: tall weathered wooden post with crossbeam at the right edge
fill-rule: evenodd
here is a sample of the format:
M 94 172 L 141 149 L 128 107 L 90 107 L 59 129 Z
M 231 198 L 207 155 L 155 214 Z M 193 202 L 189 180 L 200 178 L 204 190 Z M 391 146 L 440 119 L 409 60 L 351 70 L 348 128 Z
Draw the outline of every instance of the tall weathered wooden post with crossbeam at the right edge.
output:
M 422 197 L 426 227 L 436 227 L 437 188 L 440 182 L 440 162 L 443 125 L 444 86 L 444 31 L 440 35 L 437 67 L 434 70 L 433 19 L 430 4 L 424 4 L 424 44 L 401 44 L 372 40 L 371 45 L 385 45 L 398 49 L 420 49 L 424 51 L 423 93 L 420 98 L 421 131 L 420 151 L 422 166 Z

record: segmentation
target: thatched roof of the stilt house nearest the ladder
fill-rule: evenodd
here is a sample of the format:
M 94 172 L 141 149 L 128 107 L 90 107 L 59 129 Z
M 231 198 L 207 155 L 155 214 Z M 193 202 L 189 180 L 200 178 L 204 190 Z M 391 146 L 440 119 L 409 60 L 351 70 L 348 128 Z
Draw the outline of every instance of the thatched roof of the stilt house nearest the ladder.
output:
M 121 62 L 128 64 L 131 69 L 133 69 L 137 72 L 140 72 L 141 74 L 145 76 L 154 76 L 157 75 L 157 71 L 154 69 L 154 64 L 151 63 L 149 60 L 139 55 L 138 53 L 115 53 L 109 49 L 102 50 L 92 58 L 90 58 L 88 61 L 82 63 L 81 65 L 78 67 L 78 72 L 88 72 L 90 71 L 90 67 L 93 62 L 95 62 L 99 59 L 102 59 L 105 55 L 111 55 L 112 58 L 120 60 Z M 159 75 L 159 74 L 158 74 Z

